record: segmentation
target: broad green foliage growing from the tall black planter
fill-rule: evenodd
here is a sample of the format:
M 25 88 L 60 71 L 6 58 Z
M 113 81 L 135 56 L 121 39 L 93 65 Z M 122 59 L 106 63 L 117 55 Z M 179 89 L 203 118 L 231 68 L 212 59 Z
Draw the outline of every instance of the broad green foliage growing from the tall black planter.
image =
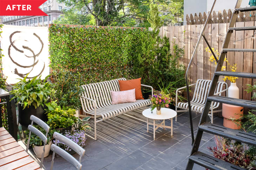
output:
M 35 109 L 40 105 L 43 106 L 50 98 L 50 91 L 53 88 L 52 83 L 47 82 L 48 75 L 44 80 L 41 80 L 41 76 L 35 76 L 33 79 L 27 79 L 26 75 L 23 79 L 13 86 L 11 94 L 17 99 L 17 102 L 22 103 L 23 109 L 33 105 Z

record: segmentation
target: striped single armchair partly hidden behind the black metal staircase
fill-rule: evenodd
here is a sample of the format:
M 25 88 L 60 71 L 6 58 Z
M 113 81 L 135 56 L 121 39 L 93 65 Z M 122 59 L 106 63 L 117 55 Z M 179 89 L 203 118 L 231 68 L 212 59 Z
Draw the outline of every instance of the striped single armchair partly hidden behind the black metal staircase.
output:
M 203 108 L 204 108 L 204 104 L 207 99 L 208 91 L 210 89 L 211 80 L 198 79 L 195 84 L 190 84 L 189 86 L 194 86 L 194 85 L 196 85 L 196 87 L 194 90 L 193 98 L 190 102 L 191 111 L 203 113 Z M 225 85 L 225 87 L 224 87 L 224 85 Z M 184 88 L 186 88 L 186 86 L 178 88 L 176 90 L 176 105 L 175 105 L 176 112 L 188 111 L 188 103 L 178 102 L 178 91 L 181 89 L 184 89 Z M 228 90 L 228 84 L 226 82 L 219 81 L 217 83 L 214 95 L 221 96 L 221 93 L 223 93 L 224 91 L 227 91 L 227 90 Z M 211 107 L 210 107 L 210 111 L 208 114 L 208 116 L 211 118 L 211 123 L 213 123 L 213 113 L 222 111 L 222 110 L 214 110 L 214 109 L 217 109 L 219 105 L 220 105 L 220 103 L 211 102 Z M 178 108 L 182 109 L 182 110 L 177 110 Z M 175 118 L 175 121 L 177 121 L 177 116 Z

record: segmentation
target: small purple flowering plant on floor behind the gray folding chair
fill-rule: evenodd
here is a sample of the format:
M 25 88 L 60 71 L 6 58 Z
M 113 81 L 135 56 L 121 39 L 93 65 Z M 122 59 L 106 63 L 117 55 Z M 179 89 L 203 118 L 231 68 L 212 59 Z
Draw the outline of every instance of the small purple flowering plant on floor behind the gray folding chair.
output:
M 83 147 L 85 145 L 85 131 L 84 130 L 73 130 L 73 131 L 65 131 L 63 133 L 64 136 L 66 136 L 68 139 L 72 140 L 73 142 L 75 142 L 76 144 L 78 144 L 79 146 Z M 55 141 L 53 141 L 55 143 Z M 59 147 L 61 147 L 62 149 L 65 149 L 66 151 L 71 151 L 72 149 L 70 147 L 68 147 L 67 145 L 65 145 L 64 143 L 60 142 L 59 140 L 57 140 L 56 143 Z

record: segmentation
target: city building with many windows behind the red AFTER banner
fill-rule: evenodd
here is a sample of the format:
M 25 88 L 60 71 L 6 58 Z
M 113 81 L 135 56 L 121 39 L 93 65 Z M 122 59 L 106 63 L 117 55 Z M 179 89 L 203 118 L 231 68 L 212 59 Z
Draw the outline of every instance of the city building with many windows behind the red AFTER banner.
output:
M 63 14 L 63 9 L 69 9 L 65 4 L 58 3 L 56 0 L 47 0 L 39 8 L 48 16 L 2 16 L 2 23 L 23 26 L 48 26 Z

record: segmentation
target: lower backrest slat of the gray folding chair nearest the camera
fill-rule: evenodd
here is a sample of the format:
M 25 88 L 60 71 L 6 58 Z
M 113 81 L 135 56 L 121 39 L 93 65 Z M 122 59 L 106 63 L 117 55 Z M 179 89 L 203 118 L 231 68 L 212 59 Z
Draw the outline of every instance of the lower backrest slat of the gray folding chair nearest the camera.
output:
M 55 144 L 52 144 L 52 146 L 50 147 L 50 149 L 57 153 L 58 155 L 60 155 L 61 157 L 63 157 L 66 161 L 68 161 L 69 163 L 71 163 L 76 169 L 81 170 L 82 169 L 82 164 L 79 163 L 78 160 L 76 160 L 72 155 L 70 155 L 69 153 L 67 153 L 65 150 L 61 149 L 60 147 L 56 146 Z M 52 170 L 52 166 L 51 166 L 51 170 Z

